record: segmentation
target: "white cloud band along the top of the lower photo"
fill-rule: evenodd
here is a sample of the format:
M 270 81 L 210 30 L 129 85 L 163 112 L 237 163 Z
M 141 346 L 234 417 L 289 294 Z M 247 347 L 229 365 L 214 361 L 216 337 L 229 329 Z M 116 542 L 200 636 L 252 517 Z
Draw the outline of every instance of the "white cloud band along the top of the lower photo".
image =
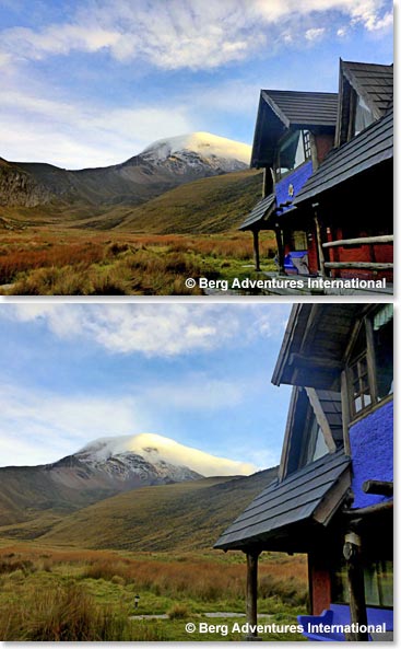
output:
M 56 336 L 89 338 L 114 354 L 174 357 L 255 336 L 281 337 L 287 305 L 8 304 L 4 316 L 42 321 Z M 237 343 L 238 344 L 238 343 Z

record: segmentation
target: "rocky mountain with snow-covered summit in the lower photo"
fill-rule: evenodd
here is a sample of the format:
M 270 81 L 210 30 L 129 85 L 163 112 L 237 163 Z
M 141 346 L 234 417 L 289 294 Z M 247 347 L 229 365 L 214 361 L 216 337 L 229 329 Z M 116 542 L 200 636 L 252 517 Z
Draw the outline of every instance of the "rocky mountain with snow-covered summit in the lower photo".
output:
M 161 436 L 101 438 L 52 464 L 0 468 L 0 525 L 48 510 L 63 514 L 143 486 L 247 470 Z

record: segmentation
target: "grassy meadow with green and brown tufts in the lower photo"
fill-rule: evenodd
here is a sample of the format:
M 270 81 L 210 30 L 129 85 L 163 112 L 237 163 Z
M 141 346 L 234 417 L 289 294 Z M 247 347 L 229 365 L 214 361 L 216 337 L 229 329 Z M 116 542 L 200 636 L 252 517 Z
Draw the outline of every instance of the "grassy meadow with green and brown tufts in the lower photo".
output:
M 261 624 L 294 624 L 305 612 L 302 556 L 263 553 L 259 570 Z M 0 640 L 240 640 L 188 634 L 185 625 L 245 623 L 241 553 L 117 553 L 0 542 Z M 134 595 L 140 595 L 134 607 Z M 207 613 L 234 617 L 208 617 Z M 163 615 L 163 618 L 132 618 Z M 263 640 L 302 640 L 270 634 Z

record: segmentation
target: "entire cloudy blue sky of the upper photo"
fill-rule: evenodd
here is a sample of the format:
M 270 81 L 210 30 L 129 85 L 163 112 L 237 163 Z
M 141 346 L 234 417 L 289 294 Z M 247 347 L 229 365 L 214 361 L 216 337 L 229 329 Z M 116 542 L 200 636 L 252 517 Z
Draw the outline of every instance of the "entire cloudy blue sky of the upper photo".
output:
M 202 130 L 251 143 L 260 88 L 392 61 L 389 0 L 0 0 L 1 151 L 79 169 Z

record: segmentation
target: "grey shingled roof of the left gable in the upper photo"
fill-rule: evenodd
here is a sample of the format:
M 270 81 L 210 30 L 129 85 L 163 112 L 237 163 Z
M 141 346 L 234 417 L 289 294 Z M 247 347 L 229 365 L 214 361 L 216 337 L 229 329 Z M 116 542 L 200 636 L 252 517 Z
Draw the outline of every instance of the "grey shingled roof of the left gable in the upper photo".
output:
M 261 94 L 287 128 L 290 126 L 335 126 L 337 93 L 262 90 Z

